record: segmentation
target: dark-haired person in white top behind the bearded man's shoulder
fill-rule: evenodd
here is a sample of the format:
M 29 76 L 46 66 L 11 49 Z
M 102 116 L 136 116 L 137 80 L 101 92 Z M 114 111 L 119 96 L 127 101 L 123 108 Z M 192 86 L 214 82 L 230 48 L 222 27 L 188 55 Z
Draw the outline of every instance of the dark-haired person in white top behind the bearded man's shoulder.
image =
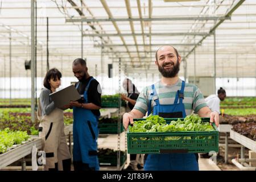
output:
M 211 111 L 217 111 L 218 114 L 220 113 L 220 101 L 224 101 L 226 98 L 226 91 L 221 87 L 218 89 L 218 96 L 216 94 L 212 94 L 205 98 L 205 102 L 207 103 L 208 107 Z

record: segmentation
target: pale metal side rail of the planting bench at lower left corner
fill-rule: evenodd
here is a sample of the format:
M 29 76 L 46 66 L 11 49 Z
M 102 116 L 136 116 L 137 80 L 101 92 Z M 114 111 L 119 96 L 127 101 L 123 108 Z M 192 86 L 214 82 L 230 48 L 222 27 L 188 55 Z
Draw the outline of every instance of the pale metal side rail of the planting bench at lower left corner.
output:
M 36 146 L 36 148 L 42 147 L 42 139 L 41 138 L 32 138 L 32 141 L 22 144 L 19 147 L 13 148 L 10 151 L 7 151 L 3 154 L 0 154 L 0 169 L 6 166 L 9 166 L 11 163 L 22 159 L 22 170 L 26 169 L 26 162 L 24 161 L 24 157 L 31 154 L 32 147 Z

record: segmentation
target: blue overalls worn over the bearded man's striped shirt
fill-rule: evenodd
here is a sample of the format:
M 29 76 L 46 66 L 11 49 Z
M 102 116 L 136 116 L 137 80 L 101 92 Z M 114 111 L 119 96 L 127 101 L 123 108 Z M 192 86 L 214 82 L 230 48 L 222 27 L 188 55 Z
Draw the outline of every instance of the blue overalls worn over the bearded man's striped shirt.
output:
M 181 90 L 177 90 L 174 104 L 161 105 L 159 104 L 158 94 L 155 85 L 152 85 L 152 93 L 150 94 L 150 102 L 148 104 L 148 115 L 151 113 L 151 100 L 154 100 L 156 105 L 153 107 L 153 115 L 159 115 L 164 118 L 184 118 L 185 107 L 183 104 L 185 82 L 182 81 Z M 177 102 L 179 100 L 179 103 Z M 199 165 L 195 154 L 189 153 L 171 153 L 171 154 L 148 154 L 144 157 L 145 171 L 198 171 Z

